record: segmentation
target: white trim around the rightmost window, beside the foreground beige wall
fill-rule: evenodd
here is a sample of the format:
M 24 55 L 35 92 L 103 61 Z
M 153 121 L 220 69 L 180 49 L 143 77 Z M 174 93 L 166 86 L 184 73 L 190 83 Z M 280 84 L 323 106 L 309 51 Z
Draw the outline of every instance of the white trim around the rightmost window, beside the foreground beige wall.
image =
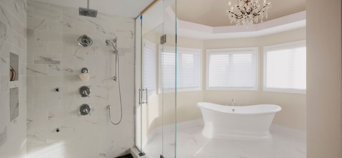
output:
M 266 75 L 267 75 L 267 51 L 272 50 L 280 50 L 284 48 L 297 48 L 298 46 L 306 46 L 306 40 L 302 41 L 295 41 L 295 42 L 288 42 L 288 43 L 281 43 L 275 45 L 268 45 L 265 46 L 264 49 L 264 74 L 263 74 L 263 91 L 269 92 L 284 92 L 284 93 L 299 93 L 299 94 L 306 94 L 306 89 L 293 89 L 293 88 L 267 88 L 266 87 Z

